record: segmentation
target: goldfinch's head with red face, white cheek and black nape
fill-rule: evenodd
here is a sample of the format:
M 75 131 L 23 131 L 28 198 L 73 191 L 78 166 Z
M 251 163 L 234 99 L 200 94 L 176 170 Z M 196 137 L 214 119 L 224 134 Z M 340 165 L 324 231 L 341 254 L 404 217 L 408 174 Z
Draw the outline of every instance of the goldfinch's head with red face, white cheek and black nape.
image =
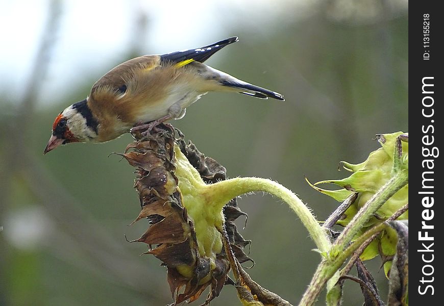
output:
M 62 144 L 92 141 L 96 136 L 97 122 L 91 116 L 85 99 L 67 107 L 56 117 L 43 154 Z

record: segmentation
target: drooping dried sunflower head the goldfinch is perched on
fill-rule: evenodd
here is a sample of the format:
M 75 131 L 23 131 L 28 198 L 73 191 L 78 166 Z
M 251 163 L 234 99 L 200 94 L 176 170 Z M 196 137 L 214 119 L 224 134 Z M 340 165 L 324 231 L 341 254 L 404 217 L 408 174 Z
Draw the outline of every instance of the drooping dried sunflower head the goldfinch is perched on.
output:
M 182 135 L 178 132 L 179 135 Z M 136 168 L 136 188 L 141 211 L 136 221 L 151 224 L 134 242 L 149 246 L 168 269 L 174 305 L 198 299 L 210 286 L 205 304 L 219 295 L 230 261 L 223 247 L 224 230 L 238 262 L 252 261 L 243 251 L 250 241 L 237 232 L 234 220 L 245 215 L 232 199 L 223 208 L 213 205 L 208 184 L 226 179 L 226 169 L 205 157 L 172 130 L 153 133 L 130 144 L 122 156 Z M 133 223 L 134 223 L 133 222 Z

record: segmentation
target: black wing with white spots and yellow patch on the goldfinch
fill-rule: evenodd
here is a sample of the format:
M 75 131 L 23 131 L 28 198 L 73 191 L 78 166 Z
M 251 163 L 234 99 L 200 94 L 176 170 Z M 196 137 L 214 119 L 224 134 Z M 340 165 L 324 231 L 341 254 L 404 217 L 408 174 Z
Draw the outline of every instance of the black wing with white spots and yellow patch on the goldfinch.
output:
M 230 37 L 208 46 L 164 54 L 160 59 L 162 62 L 174 63 L 176 67 L 185 66 L 193 61 L 203 63 L 218 50 L 236 41 L 237 37 Z

